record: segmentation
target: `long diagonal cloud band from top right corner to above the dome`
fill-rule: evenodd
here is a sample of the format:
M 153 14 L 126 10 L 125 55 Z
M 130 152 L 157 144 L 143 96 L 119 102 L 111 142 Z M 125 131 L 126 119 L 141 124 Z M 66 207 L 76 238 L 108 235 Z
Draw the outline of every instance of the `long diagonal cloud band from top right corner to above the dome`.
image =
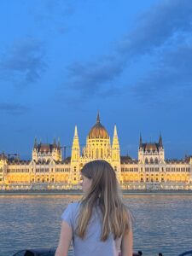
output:
M 66 85 L 82 96 L 98 96 L 102 90 L 110 90 L 112 83 L 119 84 L 117 79 L 132 61 L 169 48 L 176 36 L 184 36 L 191 28 L 190 0 L 160 1 L 138 18 L 132 31 L 127 32 L 110 55 L 84 64 L 73 63 L 68 67 Z M 168 78 L 165 76 L 165 79 Z

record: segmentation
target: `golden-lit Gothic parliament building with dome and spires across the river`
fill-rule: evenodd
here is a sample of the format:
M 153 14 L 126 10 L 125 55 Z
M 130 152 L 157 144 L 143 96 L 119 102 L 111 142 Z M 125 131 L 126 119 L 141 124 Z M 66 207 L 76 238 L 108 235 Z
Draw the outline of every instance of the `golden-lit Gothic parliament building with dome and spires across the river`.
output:
M 32 160 L 0 154 L 0 189 L 80 189 L 80 171 L 91 160 L 108 161 L 121 189 L 192 189 L 192 156 L 166 160 L 161 135 L 156 143 L 143 143 L 140 136 L 137 160 L 121 156 L 116 125 L 111 144 L 99 113 L 84 148 L 79 146 L 77 126 L 71 157 L 62 159 L 61 148 L 56 140 L 48 144 L 35 139 Z

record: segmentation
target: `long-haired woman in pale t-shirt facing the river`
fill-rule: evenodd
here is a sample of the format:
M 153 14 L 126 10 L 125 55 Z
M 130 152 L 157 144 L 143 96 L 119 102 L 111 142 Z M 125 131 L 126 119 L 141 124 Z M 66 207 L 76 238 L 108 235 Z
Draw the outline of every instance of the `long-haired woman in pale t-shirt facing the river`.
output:
M 83 198 L 62 213 L 61 236 L 55 256 L 132 256 L 131 214 L 119 195 L 113 167 L 104 160 L 82 171 Z

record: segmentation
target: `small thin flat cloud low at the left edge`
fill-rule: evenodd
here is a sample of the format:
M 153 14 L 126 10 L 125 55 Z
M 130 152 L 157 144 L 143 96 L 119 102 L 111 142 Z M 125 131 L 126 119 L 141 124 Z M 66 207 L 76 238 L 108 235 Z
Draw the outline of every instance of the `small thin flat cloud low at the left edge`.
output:
M 0 102 L 0 112 L 12 115 L 20 115 L 27 113 L 29 108 L 18 103 Z

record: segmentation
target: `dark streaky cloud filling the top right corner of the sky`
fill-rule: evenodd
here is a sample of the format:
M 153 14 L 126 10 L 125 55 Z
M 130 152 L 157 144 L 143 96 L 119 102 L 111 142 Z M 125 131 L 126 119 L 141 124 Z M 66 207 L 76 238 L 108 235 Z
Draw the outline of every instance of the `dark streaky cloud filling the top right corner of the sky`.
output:
M 119 43 L 119 54 L 143 55 L 192 29 L 192 1 L 160 1 L 141 15 L 133 31 Z

